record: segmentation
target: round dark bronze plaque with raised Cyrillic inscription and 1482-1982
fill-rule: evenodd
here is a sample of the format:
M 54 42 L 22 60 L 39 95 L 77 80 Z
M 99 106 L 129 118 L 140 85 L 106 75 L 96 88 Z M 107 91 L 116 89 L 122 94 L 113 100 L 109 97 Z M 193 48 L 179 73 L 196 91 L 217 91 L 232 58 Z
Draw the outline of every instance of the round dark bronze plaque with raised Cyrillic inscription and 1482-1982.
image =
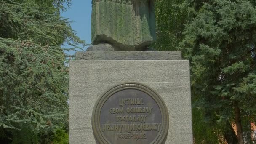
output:
M 163 99 L 151 88 L 125 83 L 98 99 L 92 127 L 99 144 L 163 144 L 169 115 Z

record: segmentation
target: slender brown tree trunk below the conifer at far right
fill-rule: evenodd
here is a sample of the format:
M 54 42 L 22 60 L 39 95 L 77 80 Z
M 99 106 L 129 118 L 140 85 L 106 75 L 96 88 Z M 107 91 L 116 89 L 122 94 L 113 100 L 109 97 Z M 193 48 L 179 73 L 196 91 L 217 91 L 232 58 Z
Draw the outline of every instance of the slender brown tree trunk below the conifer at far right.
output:
M 241 121 L 241 113 L 240 113 L 240 108 L 238 107 L 237 101 L 235 101 L 235 124 L 237 126 L 238 144 L 244 144 L 244 141 L 243 141 L 243 128 L 242 128 L 242 121 Z

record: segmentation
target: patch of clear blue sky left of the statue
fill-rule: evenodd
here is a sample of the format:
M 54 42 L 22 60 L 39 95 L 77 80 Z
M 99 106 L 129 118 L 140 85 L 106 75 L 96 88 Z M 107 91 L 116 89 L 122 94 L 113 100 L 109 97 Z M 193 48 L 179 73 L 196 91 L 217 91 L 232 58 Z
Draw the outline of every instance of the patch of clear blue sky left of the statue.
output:
M 91 44 L 91 0 L 72 0 L 71 8 L 62 12 L 61 16 L 73 21 L 71 27 L 77 36 Z

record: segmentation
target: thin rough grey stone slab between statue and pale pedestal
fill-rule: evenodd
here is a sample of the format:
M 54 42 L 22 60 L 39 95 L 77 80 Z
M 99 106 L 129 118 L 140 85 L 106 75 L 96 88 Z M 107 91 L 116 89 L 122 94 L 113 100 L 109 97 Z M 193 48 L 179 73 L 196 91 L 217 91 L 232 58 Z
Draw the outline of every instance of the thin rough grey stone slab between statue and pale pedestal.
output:
M 76 60 L 181 60 L 180 51 L 86 51 Z

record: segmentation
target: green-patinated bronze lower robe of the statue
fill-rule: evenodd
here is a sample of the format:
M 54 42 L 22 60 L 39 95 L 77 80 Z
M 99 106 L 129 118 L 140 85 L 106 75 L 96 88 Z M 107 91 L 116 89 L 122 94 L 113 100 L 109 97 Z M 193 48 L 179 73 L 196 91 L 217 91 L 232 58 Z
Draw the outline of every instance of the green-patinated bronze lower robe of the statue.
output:
M 115 51 L 144 50 L 156 40 L 155 0 L 92 0 L 91 41 Z

